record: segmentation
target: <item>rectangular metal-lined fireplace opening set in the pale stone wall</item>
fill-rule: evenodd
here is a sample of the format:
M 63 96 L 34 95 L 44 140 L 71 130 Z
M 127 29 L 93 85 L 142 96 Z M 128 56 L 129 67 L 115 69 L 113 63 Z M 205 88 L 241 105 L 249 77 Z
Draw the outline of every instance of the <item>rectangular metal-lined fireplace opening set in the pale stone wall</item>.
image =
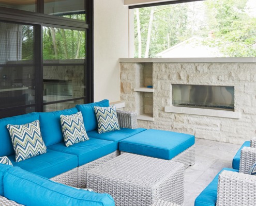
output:
M 176 107 L 235 111 L 234 87 L 172 84 L 172 98 Z

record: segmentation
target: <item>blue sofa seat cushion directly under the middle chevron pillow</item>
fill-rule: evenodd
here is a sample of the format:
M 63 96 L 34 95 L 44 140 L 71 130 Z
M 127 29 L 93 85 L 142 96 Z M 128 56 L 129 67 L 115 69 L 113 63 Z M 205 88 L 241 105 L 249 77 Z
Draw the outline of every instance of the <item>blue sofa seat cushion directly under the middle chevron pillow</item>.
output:
M 65 143 L 62 142 L 51 145 L 48 148 L 55 151 L 76 155 L 78 157 L 78 166 L 81 166 L 103 156 L 109 155 L 117 150 L 117 147 L 118 142 L 90 138 L 85 142 L 79 142 L 69 147 L 66 147 Z

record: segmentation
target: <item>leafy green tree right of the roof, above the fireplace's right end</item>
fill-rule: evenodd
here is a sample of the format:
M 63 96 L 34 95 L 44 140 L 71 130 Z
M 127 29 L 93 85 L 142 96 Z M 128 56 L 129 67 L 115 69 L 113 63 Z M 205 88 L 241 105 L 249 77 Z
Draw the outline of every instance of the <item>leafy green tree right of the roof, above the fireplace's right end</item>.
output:
M 216 38 L 205 43 L 217 45 L 227 57 L 255 57 L 256 18 L 246 12 L 247 2 L 206 1 L 209 29 Z

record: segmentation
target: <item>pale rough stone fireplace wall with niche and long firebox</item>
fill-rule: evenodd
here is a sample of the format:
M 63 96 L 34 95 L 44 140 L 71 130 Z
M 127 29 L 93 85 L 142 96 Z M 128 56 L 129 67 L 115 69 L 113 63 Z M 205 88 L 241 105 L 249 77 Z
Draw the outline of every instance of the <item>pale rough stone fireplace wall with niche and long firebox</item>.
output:
M 139 127 L 235 144 L 255 136 L 256 58 L 142 58 L 120 62 L 124 109 L 139 114 L 138 108 L 153 108 L 148 118 L 141 112 Z M 152 78 L 150 85 L 145 83 L 148 78 Z M 151 98 L 145 98 L 145 92 L 150 92 Z

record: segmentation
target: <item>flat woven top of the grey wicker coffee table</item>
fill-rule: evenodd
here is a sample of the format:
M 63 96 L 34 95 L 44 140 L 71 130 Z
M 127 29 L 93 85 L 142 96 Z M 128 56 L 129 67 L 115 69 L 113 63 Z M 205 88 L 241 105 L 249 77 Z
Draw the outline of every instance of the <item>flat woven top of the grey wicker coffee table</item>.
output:
M 89 170 L 88 173 L 109 179 L 153 186 L 160 184 L 168 177 L 175 175 L 177 170 L 183 168 L 182 163 L 124 153 Z

